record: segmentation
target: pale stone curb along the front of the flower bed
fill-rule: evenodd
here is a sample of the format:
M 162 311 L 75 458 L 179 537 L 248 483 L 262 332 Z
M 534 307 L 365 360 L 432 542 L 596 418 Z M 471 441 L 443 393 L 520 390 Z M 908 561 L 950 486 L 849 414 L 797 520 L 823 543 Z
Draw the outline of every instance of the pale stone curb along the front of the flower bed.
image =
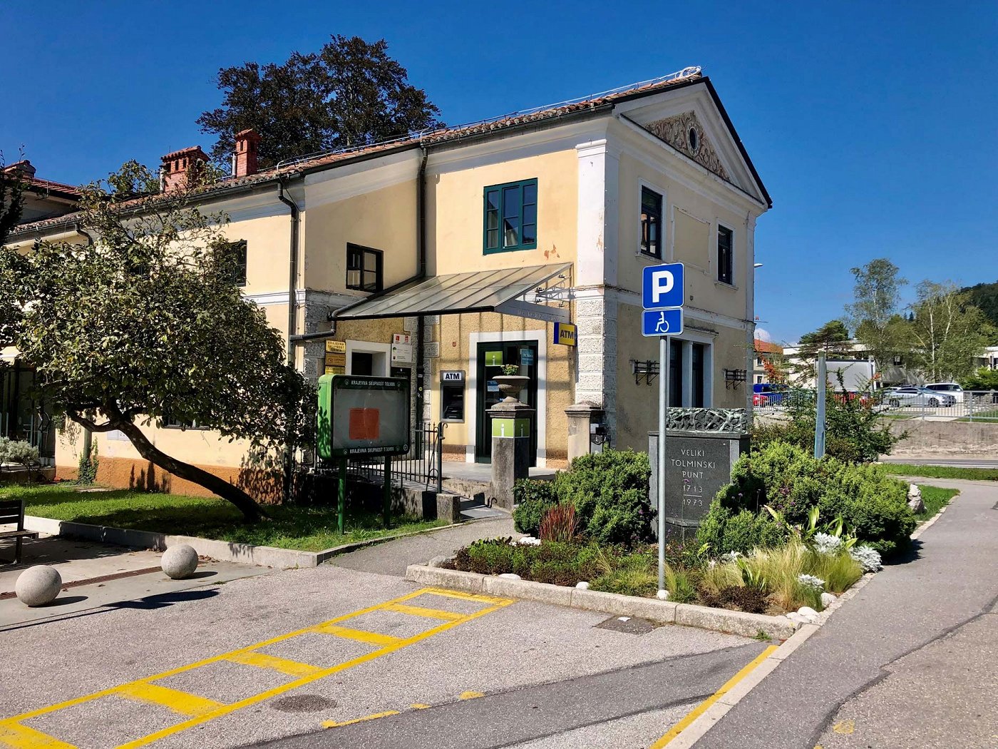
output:
M 405 579 L 410 582 L 418 582 L 421 585 L 511 596 L 587 611 L 639 616 L 659 623 L 684 624 L 702 629 L 740 634 L 745 637 L 754 637 L 761 630 L 770 638 L 785 639 L 790 637 L 797 628 L 794 622 L 783 616 L 749 614 L 744 611 L 708 608 L 690 603 L 673 603 L 655 598 L 582 590 L 546 582 L 510 580 L 494 575 L 480 575 L 473 572 L 429 567 L 424 564 L 410 564 L 406 567 Z

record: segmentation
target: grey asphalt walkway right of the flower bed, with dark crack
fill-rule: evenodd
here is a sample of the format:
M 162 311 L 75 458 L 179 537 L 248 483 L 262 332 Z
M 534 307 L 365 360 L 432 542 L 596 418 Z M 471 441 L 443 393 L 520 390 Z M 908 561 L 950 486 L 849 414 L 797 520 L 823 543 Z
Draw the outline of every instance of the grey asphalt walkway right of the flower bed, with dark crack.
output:
M 961 493 L 697 749 L 998 746 L 998 486 Z

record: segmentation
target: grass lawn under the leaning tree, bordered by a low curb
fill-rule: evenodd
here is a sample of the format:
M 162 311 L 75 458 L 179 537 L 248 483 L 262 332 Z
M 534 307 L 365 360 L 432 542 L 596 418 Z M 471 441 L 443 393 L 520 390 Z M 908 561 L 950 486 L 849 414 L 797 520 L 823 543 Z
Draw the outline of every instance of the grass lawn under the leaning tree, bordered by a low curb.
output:
M 271 519 L 247 524 L 242 513 L 223 499 L 130 489 L 81 492 L 61 484 L 0 487 L 0 498 L 13 497 L 25 500 L 27 514 L 40 517 L 299 551 L 321 551 L 444 524 L 442 520 L 393 517 L 391 527 L 385 530 L 380 513 L 348 510 L 346 532 L 338 533 L 336 510 L 330 506 L 267 506 Z

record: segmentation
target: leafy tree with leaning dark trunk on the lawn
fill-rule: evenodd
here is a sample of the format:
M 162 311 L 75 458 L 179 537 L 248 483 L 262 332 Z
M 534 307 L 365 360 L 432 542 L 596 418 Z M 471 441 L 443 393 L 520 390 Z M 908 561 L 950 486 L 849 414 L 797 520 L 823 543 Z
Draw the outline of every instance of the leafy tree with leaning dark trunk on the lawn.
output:
M 80 223 L 93 244 L 42 242 L 28 256 L 17 347 L 73 421 L 124 432 L 147 460 L 255 519 L 246 491 L 168 455 L 140 424 L 197 423 L 272 456 L 301 432 L 309 387 L 235 285 L 223 218 L 203 215 L 187 192 L 109 192 L 127 179 L 84 189 Z

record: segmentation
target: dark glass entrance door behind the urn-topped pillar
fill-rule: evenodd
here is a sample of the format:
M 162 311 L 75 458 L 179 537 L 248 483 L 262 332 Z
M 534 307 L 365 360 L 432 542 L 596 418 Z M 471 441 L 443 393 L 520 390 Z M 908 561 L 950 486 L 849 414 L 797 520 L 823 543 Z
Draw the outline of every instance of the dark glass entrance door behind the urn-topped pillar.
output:
M 505 397 L 493 379 L 502 375 L 505 365 L 516 365 L 519 374 L 530 377 L 519 394 L 519 400 L 534 409 L 530 427 L 530 464 L 537 465 L 537 342 L 513 341 L 478 344 L 478 371 L 475 399 L 478 417 L 475 419 L 475 462 L 492 462 L 492 419 L 487 411 Z

